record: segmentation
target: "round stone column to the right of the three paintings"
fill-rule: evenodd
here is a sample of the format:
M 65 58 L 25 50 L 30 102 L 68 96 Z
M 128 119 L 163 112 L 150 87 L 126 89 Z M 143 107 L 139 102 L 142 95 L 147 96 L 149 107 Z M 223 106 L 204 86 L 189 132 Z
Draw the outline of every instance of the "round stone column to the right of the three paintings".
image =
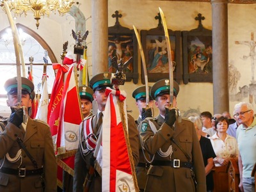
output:
M 228 0 L 212 4 L 213 110 L 229 111 L 228 95 Z

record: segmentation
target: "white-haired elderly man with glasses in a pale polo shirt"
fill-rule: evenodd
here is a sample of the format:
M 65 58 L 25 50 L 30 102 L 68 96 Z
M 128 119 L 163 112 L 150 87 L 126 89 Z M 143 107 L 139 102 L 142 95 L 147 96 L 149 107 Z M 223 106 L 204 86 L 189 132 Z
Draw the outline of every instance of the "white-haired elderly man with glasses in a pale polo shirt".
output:
M 255 177 L 252 177 L 256 162 L 256 118 L 249 102 L 239 102 L 234 107 L 234 117 L 239 122 L 236 138 L 239 147 L 239 173 L 241 191 L 255 191 Z

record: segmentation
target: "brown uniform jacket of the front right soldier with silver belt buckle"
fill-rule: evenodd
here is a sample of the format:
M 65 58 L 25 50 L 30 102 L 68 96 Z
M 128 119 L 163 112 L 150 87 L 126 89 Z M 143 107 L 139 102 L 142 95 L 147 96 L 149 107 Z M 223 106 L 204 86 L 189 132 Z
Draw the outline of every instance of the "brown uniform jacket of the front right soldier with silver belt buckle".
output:
M 152 126 L 152 124 L 154 125 Z M 154 127 L 156 128 L 155 133 Z M 171 141 L 173 138 L 191 157 L 198 182 L 195 189 L 189 168 L 150 166 L 145 191 L 206 191 L 204 161 L 192 122 L 182 118 L 182 122 L 176 121 L 174 129 L 172 129 L 164 123 L 164 118 L 161 115 L 157 118 L 151 118 L 151 120 L 146 118 L 141 123 L 140 136 L 143 147 L 151 157 L 154 156 L 154 161 L 180 159 L 180 161 L 188 162 L 182 150 Z M 168 148 L 170 150 L 171 146 L 173 152 L 168 153 Z

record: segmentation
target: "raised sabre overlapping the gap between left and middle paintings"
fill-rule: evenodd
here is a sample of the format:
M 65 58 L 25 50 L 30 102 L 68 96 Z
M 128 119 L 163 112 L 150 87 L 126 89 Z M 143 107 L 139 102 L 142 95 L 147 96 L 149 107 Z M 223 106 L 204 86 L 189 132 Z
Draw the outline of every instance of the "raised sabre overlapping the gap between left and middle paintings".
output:
M 145 110 L 149 109 L 149 88 L 148 88 L 148 72 L 147 72 L 147 65 L 146 65 L 146 61 L 145 61 L 145 55 L 142 49 L 142 45 L 141 45 L 141 40 L 140 40 L 140 35 L 138 33 L 138 30 L 136 29 L 135 26 L 133 26 L 138 44 L 139 44 L 139 48 L 140 48 L 140 54 L 141 54 L 141 60 L 142 60 L 142 66 L 143 66 L 143 72 L 144 72 L 144 76 L 145 76 L 145 86 L 146 86 L 146 108 Z

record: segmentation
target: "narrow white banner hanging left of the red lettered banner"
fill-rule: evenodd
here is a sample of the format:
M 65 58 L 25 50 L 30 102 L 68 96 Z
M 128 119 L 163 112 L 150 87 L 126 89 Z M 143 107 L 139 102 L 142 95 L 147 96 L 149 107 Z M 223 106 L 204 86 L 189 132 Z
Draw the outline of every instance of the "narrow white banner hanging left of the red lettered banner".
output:
M 41 98 L 40 98 L 35 119 L 42 120 L 45 123 L 47 123 L 48 105 L 49 105 L 49 95 L 47 90 L 47 75 L 43 74 L 42 93 L 41 93 Z

